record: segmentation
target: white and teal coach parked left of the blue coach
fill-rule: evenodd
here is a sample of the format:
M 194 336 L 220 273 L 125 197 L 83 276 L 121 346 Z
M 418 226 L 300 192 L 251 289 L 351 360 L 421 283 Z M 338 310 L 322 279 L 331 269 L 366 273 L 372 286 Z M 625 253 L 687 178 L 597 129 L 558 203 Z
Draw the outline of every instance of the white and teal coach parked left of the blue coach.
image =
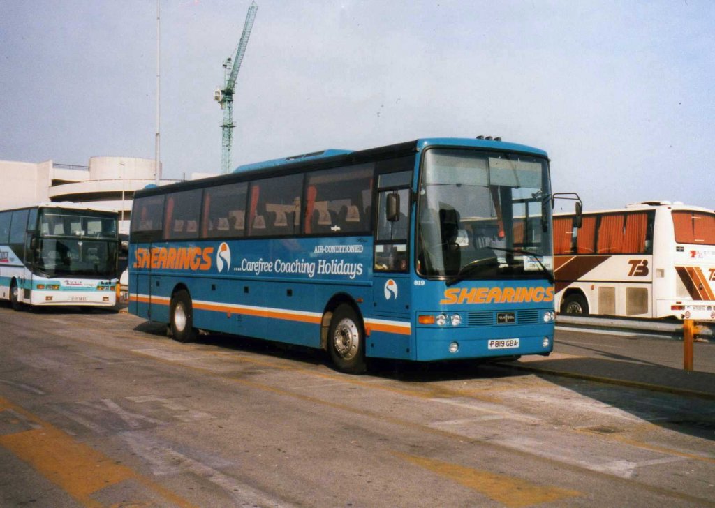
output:
M 117 224 L 117 212 L 64 202 L 0 211 L 0 299 L 114 306 Z

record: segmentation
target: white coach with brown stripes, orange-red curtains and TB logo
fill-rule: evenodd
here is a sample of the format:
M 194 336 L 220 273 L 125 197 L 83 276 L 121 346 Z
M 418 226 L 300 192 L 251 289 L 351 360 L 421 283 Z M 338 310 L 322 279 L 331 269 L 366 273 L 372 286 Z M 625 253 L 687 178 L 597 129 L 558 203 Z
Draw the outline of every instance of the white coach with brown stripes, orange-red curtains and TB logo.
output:
M 715 319 L 715 212 L 646 201 L 553 221 L 563 314 Z

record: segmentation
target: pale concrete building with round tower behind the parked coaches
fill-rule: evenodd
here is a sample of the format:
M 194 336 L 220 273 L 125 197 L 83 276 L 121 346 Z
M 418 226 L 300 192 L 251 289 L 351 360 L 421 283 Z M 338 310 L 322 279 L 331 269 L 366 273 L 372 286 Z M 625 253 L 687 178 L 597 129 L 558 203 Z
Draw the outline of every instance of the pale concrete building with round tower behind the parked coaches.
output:
M 191 179 L 205 176 L 212 175 L 194 173 Z M 134 191 L 154 184 L 154 159 L 92 157 L 89 166 L 0 161 L 0 181 L 0 209 L 72 201 L 119 211 L 119 232 L 128 234 Z

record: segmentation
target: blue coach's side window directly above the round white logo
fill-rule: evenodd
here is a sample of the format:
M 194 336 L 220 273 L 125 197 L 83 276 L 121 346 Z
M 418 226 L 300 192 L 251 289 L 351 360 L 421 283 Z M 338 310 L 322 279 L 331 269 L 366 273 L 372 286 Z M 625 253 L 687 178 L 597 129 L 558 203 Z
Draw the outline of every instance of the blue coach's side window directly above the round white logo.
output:
M 243 236 L 245 234 L 246 193 L 248 184 L 228 184 L 204 191 L 204 238 Z

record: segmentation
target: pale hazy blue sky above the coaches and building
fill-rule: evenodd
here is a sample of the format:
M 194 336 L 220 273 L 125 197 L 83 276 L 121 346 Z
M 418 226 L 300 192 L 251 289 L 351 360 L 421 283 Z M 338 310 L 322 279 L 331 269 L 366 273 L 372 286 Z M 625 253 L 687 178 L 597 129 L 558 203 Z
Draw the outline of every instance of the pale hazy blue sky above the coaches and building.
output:
M 256 2 L 232 166 L 481 134 L 546 150 L 586 210 L 715 208 L 714 1 Z M 159 5 L 163 176 L 219 172 L 250 0 Z M 154 0 L 0 0 L 0 160 L 154 159 L 156 59 Z

